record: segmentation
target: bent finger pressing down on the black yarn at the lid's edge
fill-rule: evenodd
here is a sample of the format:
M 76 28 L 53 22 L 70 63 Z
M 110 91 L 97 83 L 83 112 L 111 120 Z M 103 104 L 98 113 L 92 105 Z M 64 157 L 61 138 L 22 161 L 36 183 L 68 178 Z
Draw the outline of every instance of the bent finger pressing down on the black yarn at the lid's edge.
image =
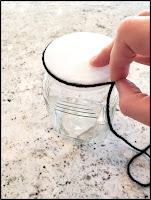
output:
M 150 55 L 150 17 L 128 17 L 120 25 L 110 55 L 111 79 L 127 77 L 137 54 Z

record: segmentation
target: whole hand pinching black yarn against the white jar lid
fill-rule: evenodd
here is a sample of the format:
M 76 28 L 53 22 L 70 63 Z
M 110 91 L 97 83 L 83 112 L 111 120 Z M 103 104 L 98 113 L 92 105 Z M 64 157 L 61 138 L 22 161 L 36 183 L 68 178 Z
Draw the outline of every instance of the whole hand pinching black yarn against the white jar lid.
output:
M 111 80 L 116 81 L 121 112 L 150 125 L 150 97 L 128 81 L 130 63 L 150 65 L 150 11 L 126 18 L 119 26 L 116 38 L 90 60 L 95 67 L 110 64 Z

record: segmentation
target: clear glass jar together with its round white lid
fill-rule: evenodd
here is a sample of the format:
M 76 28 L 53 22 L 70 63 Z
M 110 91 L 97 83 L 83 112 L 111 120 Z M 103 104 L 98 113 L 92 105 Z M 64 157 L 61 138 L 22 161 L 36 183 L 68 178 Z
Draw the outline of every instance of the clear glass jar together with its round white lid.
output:
M 101 142 L 110 132 L 106 102 L 111 85 L 99 85 L 110 80 L 109 66 L 93 69 L 89 64 L 94 49 L 100 51 L 102 41 L 103 47 L 109 43 L 104 38 L 95 33 L 69 34 L 49 44 L 43 53 L 47 72 L 42 89 L 51 126 L 56 133 L 80 142 Z M 111 122 L 117 99 L 114 87 L 110 97 Z

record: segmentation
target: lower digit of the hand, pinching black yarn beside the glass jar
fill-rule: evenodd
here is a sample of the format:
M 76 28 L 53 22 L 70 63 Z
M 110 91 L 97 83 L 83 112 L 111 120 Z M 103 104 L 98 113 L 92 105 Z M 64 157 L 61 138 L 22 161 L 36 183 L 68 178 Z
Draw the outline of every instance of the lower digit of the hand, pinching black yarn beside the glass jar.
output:
M 121 112 L 143 124 L 150 126 L 150 97 L 127 79 L 116 82 L 119 92 Z

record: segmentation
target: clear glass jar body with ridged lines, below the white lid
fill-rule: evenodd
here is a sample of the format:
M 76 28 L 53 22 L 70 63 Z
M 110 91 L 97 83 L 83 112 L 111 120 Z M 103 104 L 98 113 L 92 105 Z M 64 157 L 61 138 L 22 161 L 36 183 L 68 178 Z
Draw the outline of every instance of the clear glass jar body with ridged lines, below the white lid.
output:
M 103 142 L 110 132 L 106 102 L 110 85 L 95 89 L 75 90 L 64 87 L 46 72 L 43 95 L 54 131 L 80 142 Z M 110 119 L 114 117 L 118 92 L 113 88 L 110 97 Z

